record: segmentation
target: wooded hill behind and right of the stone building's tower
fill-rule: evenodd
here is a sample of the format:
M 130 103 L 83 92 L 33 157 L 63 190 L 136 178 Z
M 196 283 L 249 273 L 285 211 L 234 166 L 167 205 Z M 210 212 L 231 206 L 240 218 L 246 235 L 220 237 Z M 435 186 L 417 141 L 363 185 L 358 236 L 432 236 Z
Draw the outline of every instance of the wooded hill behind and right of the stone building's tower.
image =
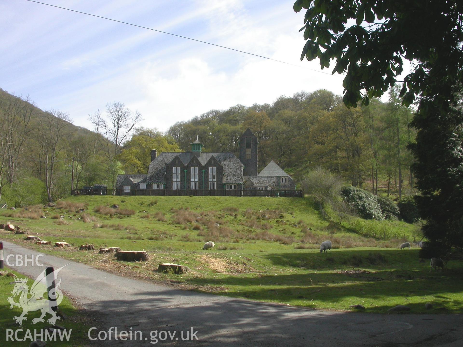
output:
M 399 189 L 399 177 L 413 185 L 407 149 L 415 138 L 411 118 L 397 89 L 388 103 L 372 100 L 357 108 L 345 107 L 341 96 L 317 90 L 283 95 L 272 105 L 211 110 L 172 125 L 168 133 L 182 150 L 189 150 L 191 139 L 199 135 L 207 151 L 238 154 L 239 136 L 249 127 L 259 141 L 259 171 L 275 160 L 298 180 L 321 166 L 353 186 L 373 190 L 374 185 L 377 192 L 378 182 Z

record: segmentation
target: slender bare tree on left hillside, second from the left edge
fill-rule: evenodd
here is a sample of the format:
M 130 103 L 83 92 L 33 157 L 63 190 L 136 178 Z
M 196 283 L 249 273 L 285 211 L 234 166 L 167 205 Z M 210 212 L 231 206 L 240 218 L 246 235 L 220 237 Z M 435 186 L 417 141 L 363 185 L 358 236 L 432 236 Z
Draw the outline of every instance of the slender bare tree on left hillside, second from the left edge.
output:
M 56 162 L 65 143 L 62 139 L 71 135 L 70 122 L 71 119 L 67 113 L 51 110 L 47 112 L 44 118 L 40 119 L 38 125 L 37 142 L 40 147 L 39 161 L 44 170 L 48 201 L 53 201 L 53 192 L 56 183 Z

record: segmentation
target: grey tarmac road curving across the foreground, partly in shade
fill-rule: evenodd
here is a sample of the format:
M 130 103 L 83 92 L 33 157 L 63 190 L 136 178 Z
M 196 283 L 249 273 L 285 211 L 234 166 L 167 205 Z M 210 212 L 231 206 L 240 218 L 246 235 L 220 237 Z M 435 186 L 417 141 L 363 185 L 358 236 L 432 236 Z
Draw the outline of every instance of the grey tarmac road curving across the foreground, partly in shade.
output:
M 3 245 L 5 259 L 8 254 L 40 254 L 11 242 Z M 463 346 L 462 315 L 306 310 L 154 285 L 47 254 L 40 262 L 55 269 L 66 265 L 59 273 L 62 290 L 98 317 L 100 327 L 92 338 L 111 327 L 143 333 L 142 341 L 115 341 L 112 335 L 111 341 L 93 342 L 96 346 L 153 346 L 153 330 L 176 331 L 174 341 L 168 337 L 157 343 L 175 346 Z M 34 279 L 44 269 L 30 264 L 13 268 Z M 191 328 L 198 331 L 198 341 L 181 341 L 181 331 L 186 337 Z

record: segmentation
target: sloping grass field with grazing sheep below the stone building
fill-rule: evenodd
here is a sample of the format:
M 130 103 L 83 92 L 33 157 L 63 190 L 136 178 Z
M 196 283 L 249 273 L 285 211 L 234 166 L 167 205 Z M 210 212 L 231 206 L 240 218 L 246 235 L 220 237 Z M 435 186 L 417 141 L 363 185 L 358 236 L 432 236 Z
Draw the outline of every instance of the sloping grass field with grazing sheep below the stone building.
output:
M 231 297 L 327 310 L 363 304 L 367 312 L 385 312 L 407 304 L 422 313 L 431 302 L 446 309 L 433 313 L 463 311 L 463 264 L 431 273 L 417 248 L 397 248 L 421 237 L 415 225 L 352 218 L 340 226 L 322 219 L 310 198 L 81 196 L 42 207 L 5 211 L 0 223 L 74 248 L 38 246 L 6 231 L 0 237 L 107 271 Z M 325 240 L 333 243 L 331 254 L 319 253 Z M 203 251 L 206 241 L 216 248 Z M 145 250 L 150 259 L 120 262 L 79 251 L 84 243 Z M 162 262 L 191 271 L 153 272 Z

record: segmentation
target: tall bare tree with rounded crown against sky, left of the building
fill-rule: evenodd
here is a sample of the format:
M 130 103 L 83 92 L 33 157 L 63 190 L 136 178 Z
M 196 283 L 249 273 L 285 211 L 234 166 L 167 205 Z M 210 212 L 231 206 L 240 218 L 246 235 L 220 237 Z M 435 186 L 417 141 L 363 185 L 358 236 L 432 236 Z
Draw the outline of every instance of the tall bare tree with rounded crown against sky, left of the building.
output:
M 99 138 L 101 148 L 108 160 L 114 163 L 114 157 L 123 148 L 123 144 L 129 139 L 135 126 L 143 120 L 142 114 L 138 111 L 133 113 L 124 104 L 115 101 L 106 105 L 106 115 L 98 110 L 90 114 L 90 122 L 94 125 L 94 131 L 102 135 Z M 116 184 L 116 165 L 112 167 L 113 187 Z

